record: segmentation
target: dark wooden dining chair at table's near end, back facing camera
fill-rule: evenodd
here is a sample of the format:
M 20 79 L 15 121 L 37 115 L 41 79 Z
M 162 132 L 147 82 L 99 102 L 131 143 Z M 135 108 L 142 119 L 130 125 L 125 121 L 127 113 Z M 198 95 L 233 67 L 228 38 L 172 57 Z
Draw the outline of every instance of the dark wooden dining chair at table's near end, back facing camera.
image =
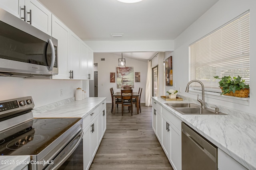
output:
M 132 89 L 131 90 L 121 90 L 121 100 L 122 100 L 122 115 L 124 114 L 124 107 L 128 106 L 129 112 L 132 113 Z

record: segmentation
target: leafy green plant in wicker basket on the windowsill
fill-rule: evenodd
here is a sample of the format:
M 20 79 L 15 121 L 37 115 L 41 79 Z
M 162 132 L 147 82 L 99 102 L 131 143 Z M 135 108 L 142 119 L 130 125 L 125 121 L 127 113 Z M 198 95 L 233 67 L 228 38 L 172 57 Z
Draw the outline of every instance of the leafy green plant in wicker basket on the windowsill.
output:
M 248 97 L 249 95 L 249 85 L 245 83 L 245 80 L 242 79 L 240 76 L 224 76 L 220 78 L 219 76 L 214 76 L 214 78 L 220 79 L 219 84 L 222 90 L 222 94 L 228 96 L 235 96 L 235 97 Z

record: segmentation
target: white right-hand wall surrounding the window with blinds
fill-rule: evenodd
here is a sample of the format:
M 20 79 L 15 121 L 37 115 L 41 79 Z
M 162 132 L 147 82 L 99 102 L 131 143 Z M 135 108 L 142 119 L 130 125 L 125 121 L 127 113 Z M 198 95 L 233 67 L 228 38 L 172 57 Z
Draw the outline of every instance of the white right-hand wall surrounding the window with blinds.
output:
M 188 46 L 194 41 L 200 39 L 204 35 L 217 29 L 224 23 L 236 18 L 246 10 L 250 10 L 250 104 L 240 104 L 239 101 L 230 102 L 232 99 L 225 96 L 211 96 L 206 94 L 206 102 L 215 104 L 216 106 L 225 106 L 256 114 L 256 1 L 255 0 L 219 0 L 204 15 L 196 20 L 182 34 L 174 40 L 174 52 L 166 53 L 166 57 L 172 55 L 173 60 L 173 80 L 176 83 L 176 90 L 182 95 L 188 95 L 196 98 L 196 94 L 191 92 L 185 93 L 185 88 L 189 80 L 189 59 Z M 174 87 L 166 87 L 174 88 Z

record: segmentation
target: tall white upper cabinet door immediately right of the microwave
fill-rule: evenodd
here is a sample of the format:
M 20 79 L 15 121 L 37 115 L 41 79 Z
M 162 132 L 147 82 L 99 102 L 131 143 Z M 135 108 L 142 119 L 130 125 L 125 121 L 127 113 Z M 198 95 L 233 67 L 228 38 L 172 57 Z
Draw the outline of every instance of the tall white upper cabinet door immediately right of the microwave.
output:
M 52 15 L 52 37 L 58 39 L 58 75 L 52 76 L 53 79 L 69 79 L 69 29 L 58 18 Z

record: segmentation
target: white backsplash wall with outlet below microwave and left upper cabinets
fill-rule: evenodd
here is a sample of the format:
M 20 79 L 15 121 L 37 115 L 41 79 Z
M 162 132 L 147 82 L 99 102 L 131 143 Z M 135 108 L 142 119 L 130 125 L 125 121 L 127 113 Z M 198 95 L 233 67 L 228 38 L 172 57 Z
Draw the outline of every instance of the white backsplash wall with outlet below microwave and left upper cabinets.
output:
M 82 87 L 82 80 L 28 80 L 0 76 L 0 101 L 32 96 L 37 108 L 74 97 L 78 87 Z

